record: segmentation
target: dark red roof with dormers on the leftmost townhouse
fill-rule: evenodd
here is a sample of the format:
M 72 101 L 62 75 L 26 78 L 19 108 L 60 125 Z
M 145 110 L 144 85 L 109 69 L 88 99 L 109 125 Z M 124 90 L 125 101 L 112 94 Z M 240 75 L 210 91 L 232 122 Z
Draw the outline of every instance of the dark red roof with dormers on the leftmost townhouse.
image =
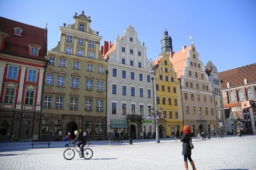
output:
M 19 27 L 23 30 L 21 37 L 13 35 L 14 27 Z M 47 42 L 44 37 L 45 34 L 47 35 L 47 29 L 45 30 L 43 28 L 0 17 L 0 30 L 1 32 L 9 34 L 9 36 L 6 37 L 4 49 L 0 50 L 0 52 L 29 57 L 28 44 L 37 44 L 42 47 L 39 51 L 38 59 L 45 60 L 44 56 L 47 53 Z M 31 56 L 29 58 L 37 59 L 36 57 Z

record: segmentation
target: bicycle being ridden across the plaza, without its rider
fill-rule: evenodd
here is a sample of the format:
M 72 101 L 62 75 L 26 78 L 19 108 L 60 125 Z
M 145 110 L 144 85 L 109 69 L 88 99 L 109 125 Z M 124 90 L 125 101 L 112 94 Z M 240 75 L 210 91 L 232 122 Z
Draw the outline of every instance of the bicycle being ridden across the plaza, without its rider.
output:
M 75 151 L 81 156 L 80 150 L 76 149 L 76 143 L 73 143 L 73 146 L 69 149 L 66 149 L 63 153 L 63 156 L 66 160 L 72 160 L 75 157 Z M 93 152 L 90 148 L 84 148 L 84 159 L 92 158 Z

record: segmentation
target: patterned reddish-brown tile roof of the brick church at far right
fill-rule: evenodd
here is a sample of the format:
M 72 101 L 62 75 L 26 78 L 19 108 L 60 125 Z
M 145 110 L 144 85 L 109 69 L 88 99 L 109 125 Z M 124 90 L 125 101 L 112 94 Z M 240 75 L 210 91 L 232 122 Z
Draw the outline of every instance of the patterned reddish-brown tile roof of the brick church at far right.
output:
M 219 72 L 219 75 L 220 79 L 223 81 L 221 83 L 223 89 L 227 88 L 227 82 L 230 83 L 230 87 L 244 85 L 244 78 L 246 78 L 248 84 L 255 83 L 256 63 Z

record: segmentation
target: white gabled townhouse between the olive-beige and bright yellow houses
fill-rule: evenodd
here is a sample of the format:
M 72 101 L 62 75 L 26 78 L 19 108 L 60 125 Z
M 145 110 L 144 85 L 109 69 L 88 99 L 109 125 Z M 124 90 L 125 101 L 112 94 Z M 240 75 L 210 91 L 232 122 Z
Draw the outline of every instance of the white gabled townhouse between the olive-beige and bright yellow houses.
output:
M 108 61 L 108 137 L 117 132 L 133 139 L 153 135 L 154 120 L 147 119 L 154 107 L 150 61 L 134 27 L 128 26 L 113 44 L 104 42 L 102 55 Z

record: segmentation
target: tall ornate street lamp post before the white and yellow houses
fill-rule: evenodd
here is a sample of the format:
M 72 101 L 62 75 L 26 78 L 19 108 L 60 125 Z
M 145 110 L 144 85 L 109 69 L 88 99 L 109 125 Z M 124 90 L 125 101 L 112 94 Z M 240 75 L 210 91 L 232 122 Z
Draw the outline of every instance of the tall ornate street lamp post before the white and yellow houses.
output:
M 159 129 L 158 129 L 158 119 L 160 118 L 162 109 L 159 108 L 157 109 L 157 100 L 156 100 L 156 68 L 154 66 L 154 64 L 151 61 L 150 58 L 150 63 L 151 63 L 151 71 L 149 72 L 150 74 L 154 74 L 154 88 L 153 88 L 153 92 L 154 92 L 154 100 L 155 100 L 155 108 L 152 108 L 152 112 L 154 117 L 156 118 L 156 143 L 160 143 L 159 140 Z M 152 68 L 154 68 L 154 71 L 152 70 Z

